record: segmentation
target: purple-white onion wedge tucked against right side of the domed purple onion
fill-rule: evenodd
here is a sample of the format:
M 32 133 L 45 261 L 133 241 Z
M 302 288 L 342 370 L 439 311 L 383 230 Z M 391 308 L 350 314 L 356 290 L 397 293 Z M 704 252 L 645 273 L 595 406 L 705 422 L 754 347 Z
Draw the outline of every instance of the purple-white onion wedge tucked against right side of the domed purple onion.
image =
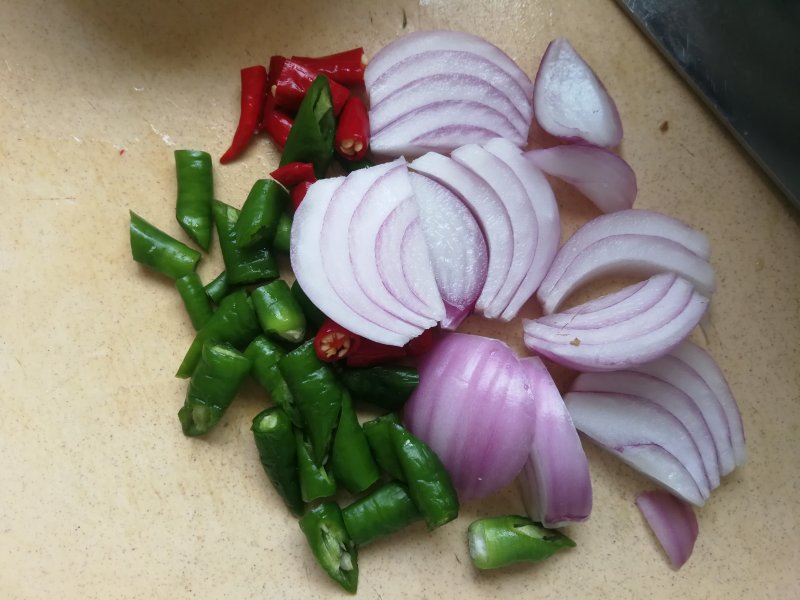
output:
M 584 521 L 592 511 L 592 481 L 578 432 L 542 361 L 520 363 L 536 403 L 530 455 L 519 476 L 525 512 L 550 528 Z

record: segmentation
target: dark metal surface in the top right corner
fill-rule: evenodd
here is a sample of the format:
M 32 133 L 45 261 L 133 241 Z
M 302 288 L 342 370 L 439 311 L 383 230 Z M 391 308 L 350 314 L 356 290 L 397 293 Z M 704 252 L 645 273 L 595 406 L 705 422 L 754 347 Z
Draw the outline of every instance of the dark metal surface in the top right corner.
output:
M 800 0 L 617 0 L 800 208 Z

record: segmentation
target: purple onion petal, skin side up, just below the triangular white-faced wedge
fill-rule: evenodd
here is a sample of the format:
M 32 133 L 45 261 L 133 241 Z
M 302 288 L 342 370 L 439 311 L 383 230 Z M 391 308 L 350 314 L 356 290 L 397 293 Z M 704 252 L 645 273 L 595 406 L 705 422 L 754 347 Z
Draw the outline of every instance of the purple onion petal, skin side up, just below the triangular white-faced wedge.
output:
M 605 148 L 555 146 L 530 150 L 525 158 L 575 186 L 603 212 L 629 209 L 636 200 L 636 174 L 627 162 Z

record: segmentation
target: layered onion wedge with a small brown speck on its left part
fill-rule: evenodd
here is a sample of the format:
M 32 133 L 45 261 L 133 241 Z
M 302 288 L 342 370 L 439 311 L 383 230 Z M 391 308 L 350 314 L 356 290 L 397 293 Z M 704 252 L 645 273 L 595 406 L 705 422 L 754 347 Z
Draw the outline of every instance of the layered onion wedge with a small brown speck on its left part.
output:
M 700 322 L 708 299 L 674 274 L 654 278 L 670 281 L 653 306 L 636 306 L 645 287 L 622 302 L 630 305 L 628 318 L 613 325 L 593 327 L 587 320 L 580 328 L 554 326 L 541 320 L 524 320 L 528 349 L 558 364 L 580 371 L 615 371 L 655 360 L 677 346 Z M 568 323 L 567 319 L 567 323 Z

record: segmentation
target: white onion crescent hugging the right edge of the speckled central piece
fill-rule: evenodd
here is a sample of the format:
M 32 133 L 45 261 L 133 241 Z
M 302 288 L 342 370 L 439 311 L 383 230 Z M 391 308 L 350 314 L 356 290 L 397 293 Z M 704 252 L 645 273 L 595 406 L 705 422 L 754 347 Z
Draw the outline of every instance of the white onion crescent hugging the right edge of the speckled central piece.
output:
M 503 201 L 485 181 L 447 156 L 431 152 L 409 168 L 453 192 L 478 222 L 489 252 L 486 281 L 475 304 L 483 311 L 503 285 L 514 255 L 511 220 Z

